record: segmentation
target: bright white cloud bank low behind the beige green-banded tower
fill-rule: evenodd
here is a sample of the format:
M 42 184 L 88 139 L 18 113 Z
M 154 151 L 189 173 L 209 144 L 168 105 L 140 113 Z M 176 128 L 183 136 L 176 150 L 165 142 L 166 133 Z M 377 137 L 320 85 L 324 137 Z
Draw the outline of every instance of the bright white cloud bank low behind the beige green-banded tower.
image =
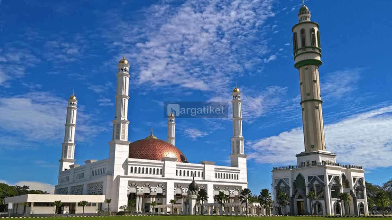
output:
M 327 150 L 336 153 L 342 163 L 366 168 L 389 167 L 392 161 L 392 106 L 352 115 L 325 125 Z M 294 128 L 279 135 L 247 141 L 250 159 L 260 163 L 295 163 L 295 155 L 303 151 L 303 130 Z

